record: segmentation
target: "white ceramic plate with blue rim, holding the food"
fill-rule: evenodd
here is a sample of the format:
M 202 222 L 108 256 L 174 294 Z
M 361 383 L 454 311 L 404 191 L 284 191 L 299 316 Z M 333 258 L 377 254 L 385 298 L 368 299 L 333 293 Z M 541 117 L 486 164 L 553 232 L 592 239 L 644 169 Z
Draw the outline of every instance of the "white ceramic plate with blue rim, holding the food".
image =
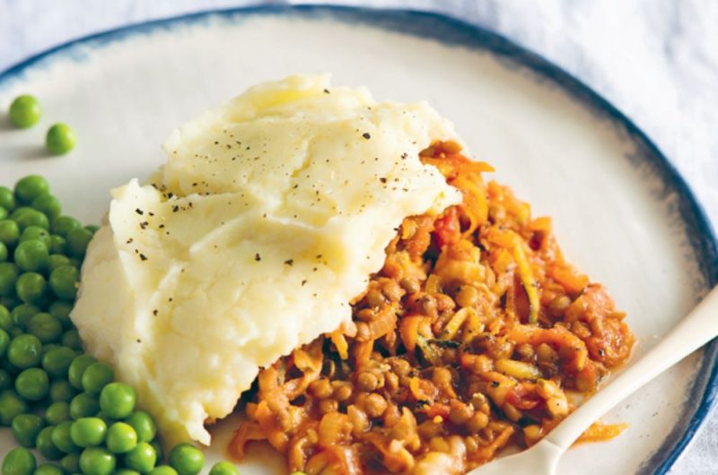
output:
M 174 126 L 256 82 L 332 72 L 378 99 L 427 99 L 457 125 L 495 178 L 554 218 L 566 255 L 628 313 L 635 358 L 718 281 L 718 252 L 695 198 L 652 142 L 605 99 L 545 59 L 487 30 L 430 13 L 329 6 L 199 13 L 80 39 L 0 75 L 0 104 L 37 95 L 42 123 L 0 126 L 4 185 L 47 176 L 66 211 L 97 222 L 109 189 L 162 163 Z M 43 134 L 64 121 L 79 135 L 65 157 Z M 710 409 L 714 342 L 605 416 L 630 427 L 580 445 L 559 473 L 665 473 Z M 233 421 L 215 428 L 223 456 Z M 0 446 L 12 446 L 2 431 Z M 271 451 L 245 475 L 283 473 Z

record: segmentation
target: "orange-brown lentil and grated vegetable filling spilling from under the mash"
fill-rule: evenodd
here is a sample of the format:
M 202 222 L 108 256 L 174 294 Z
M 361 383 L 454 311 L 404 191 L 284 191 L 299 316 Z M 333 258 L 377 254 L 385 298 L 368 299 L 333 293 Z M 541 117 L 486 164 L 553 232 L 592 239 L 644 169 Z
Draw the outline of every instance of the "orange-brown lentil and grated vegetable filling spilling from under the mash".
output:
M 352 322 L 260 372 L 233 455 L 268 441 L 308 475 L 459 474 L 535 444 L 629 357 L 625 314 L 548 218 L 455 142 L 421 158 L 463 203 L 404 220 Z

